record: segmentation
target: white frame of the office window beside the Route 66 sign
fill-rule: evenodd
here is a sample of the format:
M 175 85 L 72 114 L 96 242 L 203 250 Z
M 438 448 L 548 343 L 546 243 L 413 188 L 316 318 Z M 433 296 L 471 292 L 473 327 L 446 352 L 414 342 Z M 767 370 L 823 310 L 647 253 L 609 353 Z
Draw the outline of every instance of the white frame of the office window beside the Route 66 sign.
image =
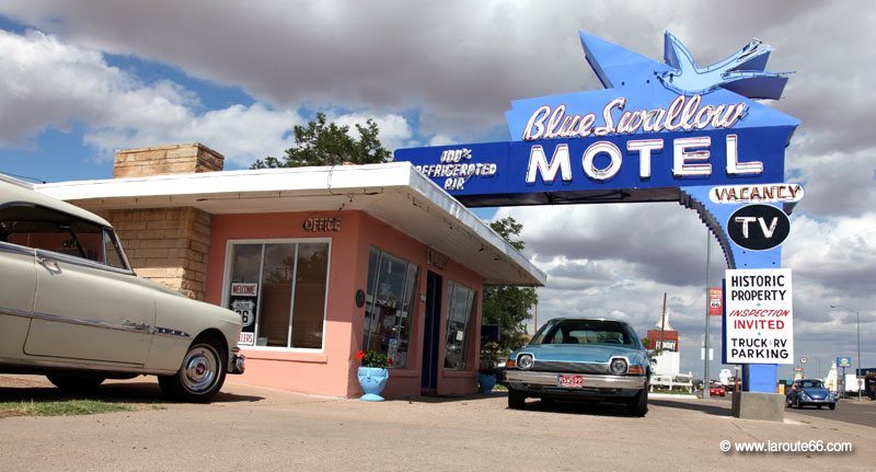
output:
M 327 243 L 328 244 L 328 256 L 325 260 L 325 298 L 323 300 L 323 310 L 322 310 L 322 347 L 311 348 L 311 347 L 288 347 L 291 345 L 291 336 L 292 336 L 292 318 L 295 313 L 295 292 L 297 289 L 297 284 L 292 284 L 291 292 L 289 293 L 290 297 L 290 306 L 289 306 L 289 331 L 287 332 L 287 347 L 280 346 L 240 346 L 243 349 L 247 350 L 264 350 L 264 352 L 275 352 L 275 353 L 309 353 L 309 354 L 325 354 L 325 335 L 326 335 L 326 326 L 328 320 L 328 292 L 331 291 L 331 284 L 332 280 L 332 238 L 257 238 L 257 239 L 229 239 L 226 241 L 226 262 L 224 268 L 222 270 L 222 308 L 229 309 L 229 299 L 231 298 L 231 266 L 232 260 L 234 257 L 234 245 L 238 244 L 260 244 L 262 245 L 262 256 L 258 263 L 258 304 L 255 309 L 255 332 L 254 336 L 256 342 L 258 339 L 258 331 L 260 331 L 260 322 L 261 322 L 261 314 L 262 314 L 262 277 L 264 276 L 264 264 L 265 264 L 265 245 L 267 244 L 296 244 L 295 253 L 296 253 L 296 272 L 298 270 L 298 244 L 301 243 Z M 293 279 L 295 280 L 295 279 Z

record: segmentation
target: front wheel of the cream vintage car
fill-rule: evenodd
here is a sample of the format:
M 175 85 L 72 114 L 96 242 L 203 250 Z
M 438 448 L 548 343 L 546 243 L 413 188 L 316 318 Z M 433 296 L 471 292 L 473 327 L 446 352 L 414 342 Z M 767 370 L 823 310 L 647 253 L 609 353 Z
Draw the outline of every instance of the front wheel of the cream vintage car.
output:
M 219 393 L 224 380 L 224 352 L 218 341 L 206 336 L 192 343 L 176 373 L 160 376 L 158 383 L 172 400 L 206 403 Z

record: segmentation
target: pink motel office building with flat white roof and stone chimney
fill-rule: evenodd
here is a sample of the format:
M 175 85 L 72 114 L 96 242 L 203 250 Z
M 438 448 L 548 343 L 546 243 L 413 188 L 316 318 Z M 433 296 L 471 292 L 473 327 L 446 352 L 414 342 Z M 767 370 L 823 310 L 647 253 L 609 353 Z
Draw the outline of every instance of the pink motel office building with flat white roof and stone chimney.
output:
M 485 285 L 545 276 L 406 162 L 222 171 L 201 145 L 123 150 L 114 179 L 36 185 L 104 216 L 138 275 L 244 322 L 235 381 L 361 394 L 360 349 L 389 396 L 476 390 Z

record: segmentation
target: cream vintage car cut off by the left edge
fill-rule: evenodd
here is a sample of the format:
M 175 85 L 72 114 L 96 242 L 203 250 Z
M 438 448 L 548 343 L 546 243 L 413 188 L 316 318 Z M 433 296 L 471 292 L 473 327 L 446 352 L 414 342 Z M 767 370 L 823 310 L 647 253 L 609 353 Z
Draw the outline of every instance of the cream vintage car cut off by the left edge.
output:
M 135 275 L 103 218 L 0 175 L 0 372 L 67 390 L 158 376 L 207 402 L 241 373 L 241 318 Z

